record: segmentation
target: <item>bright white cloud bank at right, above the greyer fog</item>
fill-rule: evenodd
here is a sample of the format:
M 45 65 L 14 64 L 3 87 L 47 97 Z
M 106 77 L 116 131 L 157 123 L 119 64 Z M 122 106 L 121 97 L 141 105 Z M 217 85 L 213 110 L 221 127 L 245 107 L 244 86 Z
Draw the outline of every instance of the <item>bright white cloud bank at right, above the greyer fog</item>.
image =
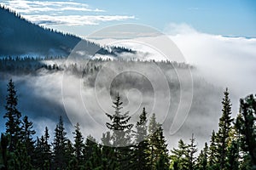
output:
M 169 37 L 208 82 L 229 87 L 237 98 L 255 94 L 256 38 L 211 35 L 186 25 L 177 28 L 183 32 Z

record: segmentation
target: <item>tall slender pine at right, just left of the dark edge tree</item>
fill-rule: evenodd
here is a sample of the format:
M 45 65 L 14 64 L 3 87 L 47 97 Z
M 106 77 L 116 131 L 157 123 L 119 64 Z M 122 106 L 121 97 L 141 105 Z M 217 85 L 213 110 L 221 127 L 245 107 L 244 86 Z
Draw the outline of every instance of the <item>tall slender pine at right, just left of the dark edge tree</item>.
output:
M 220 169 L 226 167 L 227 161 L 227 148 L 230 142 L 230 130 L 231 122 L 231 104 L 228 88 L 224 91 L 224 99 L 222 100 L 222 116 L 219 118 L 218 122 L 218 133 L 217 133 L 217 156 L 218 156 L 218 165 Z

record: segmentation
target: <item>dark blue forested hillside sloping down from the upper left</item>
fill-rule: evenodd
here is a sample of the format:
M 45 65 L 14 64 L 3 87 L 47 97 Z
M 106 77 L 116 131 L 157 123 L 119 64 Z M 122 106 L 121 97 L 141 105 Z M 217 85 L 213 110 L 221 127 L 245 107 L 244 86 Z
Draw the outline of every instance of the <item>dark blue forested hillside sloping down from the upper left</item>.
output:
M 87 54 L 135 53 L 131 49 L 102 48 L 94 42 L 82 40 L 71 34 L 64 34 L 33 24 L 20 14 L 0 6 L 0 56 L 65 56 L 80 42 L 86 43 Z

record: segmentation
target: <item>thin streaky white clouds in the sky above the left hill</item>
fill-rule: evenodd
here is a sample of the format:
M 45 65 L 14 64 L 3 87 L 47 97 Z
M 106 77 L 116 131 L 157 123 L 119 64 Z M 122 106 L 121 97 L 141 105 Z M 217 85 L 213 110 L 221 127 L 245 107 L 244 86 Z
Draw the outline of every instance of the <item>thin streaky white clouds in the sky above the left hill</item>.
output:
M 65 1 L 3 0 L 2 4 L 20 13 L 27 20 L 40 26 L 86 26 L 101 22 L 131 20 L 134 16 L 103 15 L 103 9 L 90 8 L 85 3 Z M 75 14 L 74 14 L 75 13 Z

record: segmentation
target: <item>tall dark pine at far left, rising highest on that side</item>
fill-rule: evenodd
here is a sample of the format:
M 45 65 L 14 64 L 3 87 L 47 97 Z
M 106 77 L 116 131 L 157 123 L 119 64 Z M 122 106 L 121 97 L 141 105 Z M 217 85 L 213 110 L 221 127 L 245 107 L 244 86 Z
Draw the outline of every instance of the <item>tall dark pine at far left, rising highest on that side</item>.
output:
M 20 139 L 20 117 L 21 113 L 17 109 L 18 98 L 16 96 L 15 83 L 12 79 L 8 83 L 8 95 L 6 97 L 5 110 L 7 111 L 3 118 L 7 118 L 6 133 L 9 134 L 9 150 L 14 151 L 16 144 Z

